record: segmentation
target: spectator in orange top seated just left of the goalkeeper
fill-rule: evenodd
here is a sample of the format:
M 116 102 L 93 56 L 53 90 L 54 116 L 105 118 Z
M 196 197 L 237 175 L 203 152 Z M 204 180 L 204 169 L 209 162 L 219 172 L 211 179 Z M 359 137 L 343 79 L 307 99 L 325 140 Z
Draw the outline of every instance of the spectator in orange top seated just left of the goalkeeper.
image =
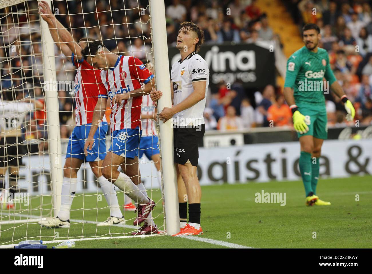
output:
M 275 103 L 267 110 L 267 121 L 273 121 L 274 126 L 289 126 L 292 124 L 292 111 L 285 103 L 282 94 L 276 95 Z

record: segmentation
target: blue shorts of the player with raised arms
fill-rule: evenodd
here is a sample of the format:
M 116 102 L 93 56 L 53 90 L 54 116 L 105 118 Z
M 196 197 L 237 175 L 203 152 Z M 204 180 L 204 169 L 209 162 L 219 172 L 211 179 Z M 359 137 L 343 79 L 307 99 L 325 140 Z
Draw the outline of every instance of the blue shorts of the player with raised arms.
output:
M 68 139 L 66 158 L 78 158 L 87 162 L 103 160 L 106 156 L 106 133 L 108 130 L 107 122 L 102 122 L 94 133 L 94 144 L 92 150 L 87 150 L 84 154 L 85 139 L 89 135 L 92 123 L 77 126 L 74 128 Z

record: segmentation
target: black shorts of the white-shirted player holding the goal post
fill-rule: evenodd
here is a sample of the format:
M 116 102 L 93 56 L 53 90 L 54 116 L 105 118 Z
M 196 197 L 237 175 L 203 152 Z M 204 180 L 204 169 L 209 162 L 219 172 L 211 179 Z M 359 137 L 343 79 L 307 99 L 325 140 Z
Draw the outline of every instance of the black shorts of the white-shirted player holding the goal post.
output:
M 204 132 L 204 124 L 196 127 L 174 127 L 174 163 L 186 164 L 187 160 L 190 160 L 193 166 L 198 166 L 199 143 L 203 139 Z

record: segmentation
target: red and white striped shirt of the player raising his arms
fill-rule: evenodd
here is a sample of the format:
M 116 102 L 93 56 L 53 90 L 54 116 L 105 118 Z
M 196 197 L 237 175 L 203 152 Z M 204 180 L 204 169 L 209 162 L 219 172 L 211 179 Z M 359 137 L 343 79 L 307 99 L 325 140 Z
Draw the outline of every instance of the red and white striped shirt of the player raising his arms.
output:
M 98 95 L 105 90 L 102 88 L 101 70 L 94 69 L 86 60 L 78 61 L 75 55 L 71 61 L 78 67 L 75 76 L 74 96 L 76 102 L 75 122 L 77 126 L 92 123 L 94 107 Z M 99 85 L 101 83 L 101 85 Z M 103 117 L 106 122 L 106 117 Z

